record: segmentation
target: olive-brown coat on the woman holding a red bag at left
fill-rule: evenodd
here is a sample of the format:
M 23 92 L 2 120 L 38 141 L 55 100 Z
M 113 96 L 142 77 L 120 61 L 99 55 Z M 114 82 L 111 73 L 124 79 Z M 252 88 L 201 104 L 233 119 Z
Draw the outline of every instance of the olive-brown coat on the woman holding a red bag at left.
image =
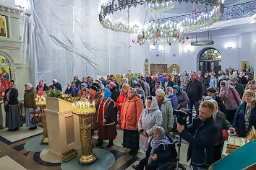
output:
M 37 97 L 37 95 L 36 95 L 36 92 L 35 92 L 33 87 L 30 90 L 28 90 L 28 91 L 25 90 L 25 94 L 24 94 L 24 107 L 36 108 L 36 105 L 35 105 L 36 97 Z

